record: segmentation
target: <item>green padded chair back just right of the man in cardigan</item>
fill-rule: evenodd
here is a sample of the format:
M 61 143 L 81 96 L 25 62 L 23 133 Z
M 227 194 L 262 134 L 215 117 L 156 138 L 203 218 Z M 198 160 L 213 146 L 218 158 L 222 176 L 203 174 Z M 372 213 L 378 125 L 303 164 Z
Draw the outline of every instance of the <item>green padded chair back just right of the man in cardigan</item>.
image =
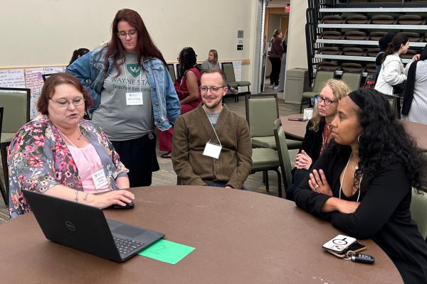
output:
M 274 136 L 274 121 L 279 118 L 277 94 L 246 94 L 245 99 L 251 138 Z

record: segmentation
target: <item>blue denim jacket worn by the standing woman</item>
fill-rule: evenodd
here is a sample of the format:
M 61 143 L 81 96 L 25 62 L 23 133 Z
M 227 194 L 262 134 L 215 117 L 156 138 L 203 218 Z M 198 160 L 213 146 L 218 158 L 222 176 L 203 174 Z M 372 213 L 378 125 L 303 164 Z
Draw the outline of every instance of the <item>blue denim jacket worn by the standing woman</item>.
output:
M 89 109 L 90 113 L 100 107 L 104 80 L 114 67 L 114 58 L 110 56 L 108 58 L 110 66 L 107 70 L 104 64 L 106 51 L 106 48 L 90 51 L 90 53 L 75 60 L 66 70 L 80 80 L 83 87 L 89 90 L 90 97 L 95 101 L 93 107 Z M 171 128 L 169 119 L 172 124 L 175 124 L 181 113 L 181 104 L 179 104 L 169 71 L 162 60 L 147 58 L 142 65 L 144 65 L 151 89 L 154 124 L 161 131 L 165 131 Z

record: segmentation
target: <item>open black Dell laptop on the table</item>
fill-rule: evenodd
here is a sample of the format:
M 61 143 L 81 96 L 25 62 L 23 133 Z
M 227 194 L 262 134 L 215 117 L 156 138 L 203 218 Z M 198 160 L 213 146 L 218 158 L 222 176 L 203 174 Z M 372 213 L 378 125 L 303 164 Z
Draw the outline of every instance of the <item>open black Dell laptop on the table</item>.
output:
M 46 239 L 122 262 L 164 234 L 105 219 L 102 209 L 23 190 Z M 125 213 L 125 212 L 123 212 Z

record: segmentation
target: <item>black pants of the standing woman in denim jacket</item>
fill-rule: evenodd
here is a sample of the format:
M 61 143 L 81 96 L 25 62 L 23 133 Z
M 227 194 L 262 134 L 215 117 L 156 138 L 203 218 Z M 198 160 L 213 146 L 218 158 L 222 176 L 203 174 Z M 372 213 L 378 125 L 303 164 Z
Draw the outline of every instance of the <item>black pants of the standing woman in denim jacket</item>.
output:
M 151 137 L 151 138 L 150 138 Z M 111 141 L 123 165 L 129 169 L 130 187 L 149 186 L 152 172 L 159 167 L 154 133 L 127 141 Z

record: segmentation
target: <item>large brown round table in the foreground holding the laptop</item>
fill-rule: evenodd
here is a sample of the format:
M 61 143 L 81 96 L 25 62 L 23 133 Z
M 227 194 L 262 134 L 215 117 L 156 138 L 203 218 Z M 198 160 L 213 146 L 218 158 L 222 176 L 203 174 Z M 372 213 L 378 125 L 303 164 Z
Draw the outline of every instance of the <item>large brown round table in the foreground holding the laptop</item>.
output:
M 322 250 L 340 233 L 293 202 L 216 187 L 137 187 L 135 209 L 104 210 L 196 249 L 176 265 L 135 256 L 115 263 L 48 241 L 33 214 L 0 225 L 2 283 L 401 283 L 371 240 L 374 265 Z

